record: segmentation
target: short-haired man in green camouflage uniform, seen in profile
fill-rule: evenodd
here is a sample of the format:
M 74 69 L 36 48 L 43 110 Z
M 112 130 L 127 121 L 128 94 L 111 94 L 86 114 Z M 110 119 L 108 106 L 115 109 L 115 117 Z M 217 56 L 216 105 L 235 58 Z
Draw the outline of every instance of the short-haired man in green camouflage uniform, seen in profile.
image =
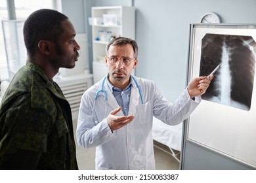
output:
M 53 76 L 73 68 L 75 29 L 64 14 L 37 10 L 24 24 L 28 61 L 0 108 L 0 169 L 78 169 L 70 105 Z

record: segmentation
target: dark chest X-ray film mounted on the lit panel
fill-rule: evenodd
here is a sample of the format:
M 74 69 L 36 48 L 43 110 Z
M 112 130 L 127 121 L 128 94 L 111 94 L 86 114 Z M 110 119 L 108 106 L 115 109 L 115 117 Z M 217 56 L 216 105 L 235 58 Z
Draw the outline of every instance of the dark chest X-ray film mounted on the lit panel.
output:
M 202 39 L 200 76 L 221 67 L 202 99 L 243 110 L 251 108 L 256 43 L 251 36 L 206 34 Z

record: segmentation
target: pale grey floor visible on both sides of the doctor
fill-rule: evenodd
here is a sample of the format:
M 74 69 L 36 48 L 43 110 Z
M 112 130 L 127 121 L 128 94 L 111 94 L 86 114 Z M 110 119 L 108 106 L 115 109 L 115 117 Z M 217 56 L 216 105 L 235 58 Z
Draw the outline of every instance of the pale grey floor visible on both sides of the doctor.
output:
M 76 121 L 74 120 L 74 131 L 76 129 Z M 76 142 L 76 138 L 75 138 Z M 76 142 L 77 144 L 77 142 Z M 159 142 L 154 144 L 161 146 L 161 148 L 170 151 L 169 148 Z M 158 170 L 178 170 L 179 162 L 171 155 L 163 152 L 158 148 L 154 148 L 156 169 Z M 94 170 L 95 169 L 95 148 L 84 149 L 77 145 L 77 163 L 80 170 Z

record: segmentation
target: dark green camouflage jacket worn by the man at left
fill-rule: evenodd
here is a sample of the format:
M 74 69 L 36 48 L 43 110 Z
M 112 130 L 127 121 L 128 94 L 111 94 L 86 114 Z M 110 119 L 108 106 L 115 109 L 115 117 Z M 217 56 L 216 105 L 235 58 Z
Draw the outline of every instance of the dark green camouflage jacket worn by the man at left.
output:
M 15 164 L 13 155 L 28 158 L 17 150 L 39 153 L 33 169 L 78 169 L 70 105 L 30 61 L 16 73 L 1 103 L 0 169 L 17 169 L 9 167 Z

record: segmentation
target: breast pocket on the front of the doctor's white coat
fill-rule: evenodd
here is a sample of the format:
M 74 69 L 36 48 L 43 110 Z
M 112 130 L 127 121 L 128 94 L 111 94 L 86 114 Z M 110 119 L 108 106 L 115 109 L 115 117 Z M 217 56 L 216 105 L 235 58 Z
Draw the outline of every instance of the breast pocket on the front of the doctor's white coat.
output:
M 152 105 L 149 101 L 144 104 L 137 105 L 135 117 L 138 118 L 140 124 L 149 123 L 152 115 Z

